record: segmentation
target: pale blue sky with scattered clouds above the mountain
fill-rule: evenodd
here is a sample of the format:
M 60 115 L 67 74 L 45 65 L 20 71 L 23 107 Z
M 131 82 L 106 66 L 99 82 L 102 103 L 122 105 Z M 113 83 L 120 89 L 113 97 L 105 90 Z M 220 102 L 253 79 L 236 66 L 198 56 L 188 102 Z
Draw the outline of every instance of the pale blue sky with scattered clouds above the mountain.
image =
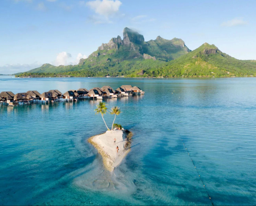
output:
M 0 0 L 0 74 L 74 65 L 129 27 L 256 59 L 256 1 Z

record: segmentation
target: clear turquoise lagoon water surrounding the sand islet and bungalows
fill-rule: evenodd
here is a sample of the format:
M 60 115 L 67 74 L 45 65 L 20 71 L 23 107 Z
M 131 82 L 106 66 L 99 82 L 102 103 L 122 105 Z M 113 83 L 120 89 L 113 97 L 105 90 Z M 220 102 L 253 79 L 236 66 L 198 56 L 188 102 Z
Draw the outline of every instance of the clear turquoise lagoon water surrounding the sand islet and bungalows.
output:
M 146 94 L 107 100 L 134 133 L 112 175 L 87 143 L 105 131 L 97 101 L 1 106 L 0 205 L 211 205 L 181 138 L 215 205 L 255 205 L 255 78 L 0 77 L 13 93 L 126 84 Z

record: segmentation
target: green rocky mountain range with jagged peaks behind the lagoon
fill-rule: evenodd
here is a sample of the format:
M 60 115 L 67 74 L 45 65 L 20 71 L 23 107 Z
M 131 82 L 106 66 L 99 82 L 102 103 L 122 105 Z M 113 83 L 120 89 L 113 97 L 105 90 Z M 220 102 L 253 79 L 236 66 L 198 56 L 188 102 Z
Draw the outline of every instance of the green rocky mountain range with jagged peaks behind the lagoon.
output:
M 112 38 L 78 65 L 39 68 L 16 75 L 23 76 L 128 76 L 128 77 L 210 77 L 256 74 L 256 61 L 238 60 L 207 43 L 194 51 L 182 39 L 158 36 L 146 42 L 143 35 L 124 28 L 124 38 Z

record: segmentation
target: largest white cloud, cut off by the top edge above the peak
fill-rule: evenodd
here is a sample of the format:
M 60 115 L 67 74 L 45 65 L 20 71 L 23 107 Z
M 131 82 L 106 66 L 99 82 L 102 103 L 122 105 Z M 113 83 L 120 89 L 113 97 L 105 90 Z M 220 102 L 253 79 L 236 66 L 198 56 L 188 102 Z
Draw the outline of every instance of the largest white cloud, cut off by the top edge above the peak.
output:
M 79 4 L 84 4 L 84 1 L 80 1 Z M 90 7 L 90 9 L 94 10 L 96 14 L 100 14 L 107 18 L 115 14 L 119 10 L 121 4 L 122 2 L 120 2 L 119 0 L 95 0 L 85 3 L 85 5 Z

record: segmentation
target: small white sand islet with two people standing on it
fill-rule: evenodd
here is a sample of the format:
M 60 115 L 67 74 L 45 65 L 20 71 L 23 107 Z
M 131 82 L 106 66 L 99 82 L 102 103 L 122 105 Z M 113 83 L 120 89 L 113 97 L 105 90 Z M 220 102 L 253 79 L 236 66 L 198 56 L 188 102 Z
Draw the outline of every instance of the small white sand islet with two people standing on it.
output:
M 127 134 L 125 134 L 127 133 Z M 127 135 L 127 136 L 126 136 Z M 126 139 L 127 137 L 127 139 Z M 110 172 L 120 165 L 126 154 L 130 152 L 131 132 L 122 130 L 111 130 L 88 139 L 98 152 L 102 155 L 103 164 Z M 114 139 L 116 144 L 114 145 Z M 117 146 L 119 151 L 117 153 Z

